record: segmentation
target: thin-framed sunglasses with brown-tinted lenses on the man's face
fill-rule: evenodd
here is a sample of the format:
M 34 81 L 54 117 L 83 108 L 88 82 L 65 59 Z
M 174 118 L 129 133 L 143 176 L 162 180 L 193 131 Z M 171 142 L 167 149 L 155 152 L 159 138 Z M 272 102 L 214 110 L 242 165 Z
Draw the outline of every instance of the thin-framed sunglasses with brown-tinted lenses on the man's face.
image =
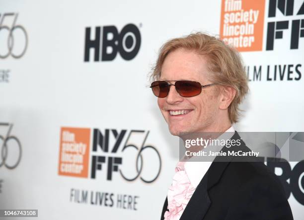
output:
M 194 97 L 200 95 L 202 88 L 214 86 L 217 83 L 212 83 L 202 86 L 199 82 L 188 80 L 170 80 L 175 84 L 170 84 L 167 81 L 155 81 L 151 84 L 153 94 L 158 98 L 164 98 L 169 94 L 170 86 L 175 86 L 176 91 L 182 97 Z

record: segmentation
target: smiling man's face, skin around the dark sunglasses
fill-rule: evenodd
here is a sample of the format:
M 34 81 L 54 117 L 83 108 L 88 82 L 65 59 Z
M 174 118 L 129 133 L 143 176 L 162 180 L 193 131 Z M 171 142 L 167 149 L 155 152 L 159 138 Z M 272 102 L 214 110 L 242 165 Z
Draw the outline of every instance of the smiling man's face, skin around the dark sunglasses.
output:
M 159 80 L 171 84 L 174 84 L 170 82 L 173 80 L 191 80 L 207 85 L 213 83 L 208 80 L 209 74 L 206 58 L 193 51 L 178 49 L 165 58 Z M 200 95 L 186 98 L 171 86 L 167 97 L 158 98 L 158 107 L 170 133 L 179 135 L 179 132 L 217 131 L 221 120 L 221 96 L 215 95 L 215 89 L 215 86 L 203 88 Z

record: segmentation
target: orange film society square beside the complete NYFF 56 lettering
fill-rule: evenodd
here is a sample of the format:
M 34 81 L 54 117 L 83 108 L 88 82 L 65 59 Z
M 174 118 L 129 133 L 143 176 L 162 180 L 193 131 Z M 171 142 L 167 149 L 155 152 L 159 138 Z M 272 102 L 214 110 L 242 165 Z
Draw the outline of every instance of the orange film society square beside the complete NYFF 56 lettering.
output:
M 59 175 L 87 178 L 89 146 L 90 128 L 62 127 Z

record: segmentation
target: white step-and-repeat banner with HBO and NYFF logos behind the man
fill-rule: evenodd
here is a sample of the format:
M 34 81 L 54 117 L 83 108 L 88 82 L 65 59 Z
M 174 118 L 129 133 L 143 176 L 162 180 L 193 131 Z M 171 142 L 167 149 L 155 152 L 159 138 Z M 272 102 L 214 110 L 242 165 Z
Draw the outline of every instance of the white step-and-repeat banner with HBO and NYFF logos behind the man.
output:
M 179 142 L 148 74 L 163 42 L 196 31 L 244 59 L 237 131 L 304 131 L 303 0 L 0 0 L 0 209 L 159 219 Z M 274 172 L 303 219 L 304 161 Z

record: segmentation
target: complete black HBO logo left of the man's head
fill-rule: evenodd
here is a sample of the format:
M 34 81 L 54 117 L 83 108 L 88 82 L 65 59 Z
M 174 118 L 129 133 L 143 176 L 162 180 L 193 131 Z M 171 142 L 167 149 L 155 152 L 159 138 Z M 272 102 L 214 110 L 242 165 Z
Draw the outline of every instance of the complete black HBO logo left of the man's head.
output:
M 102 35 L 102 37 L 101 37 Z M 90 58 L 90 50 L 94 51 L 94 61 L 111 61 L 119 52 L 125 60 L 132 60 L 141 46 L 141 33 L 134 24 L 127 24 L 120 33 L 115 26 L 95 27 L 95 36 L 91 28 L 85 28 L 84 62 Z

